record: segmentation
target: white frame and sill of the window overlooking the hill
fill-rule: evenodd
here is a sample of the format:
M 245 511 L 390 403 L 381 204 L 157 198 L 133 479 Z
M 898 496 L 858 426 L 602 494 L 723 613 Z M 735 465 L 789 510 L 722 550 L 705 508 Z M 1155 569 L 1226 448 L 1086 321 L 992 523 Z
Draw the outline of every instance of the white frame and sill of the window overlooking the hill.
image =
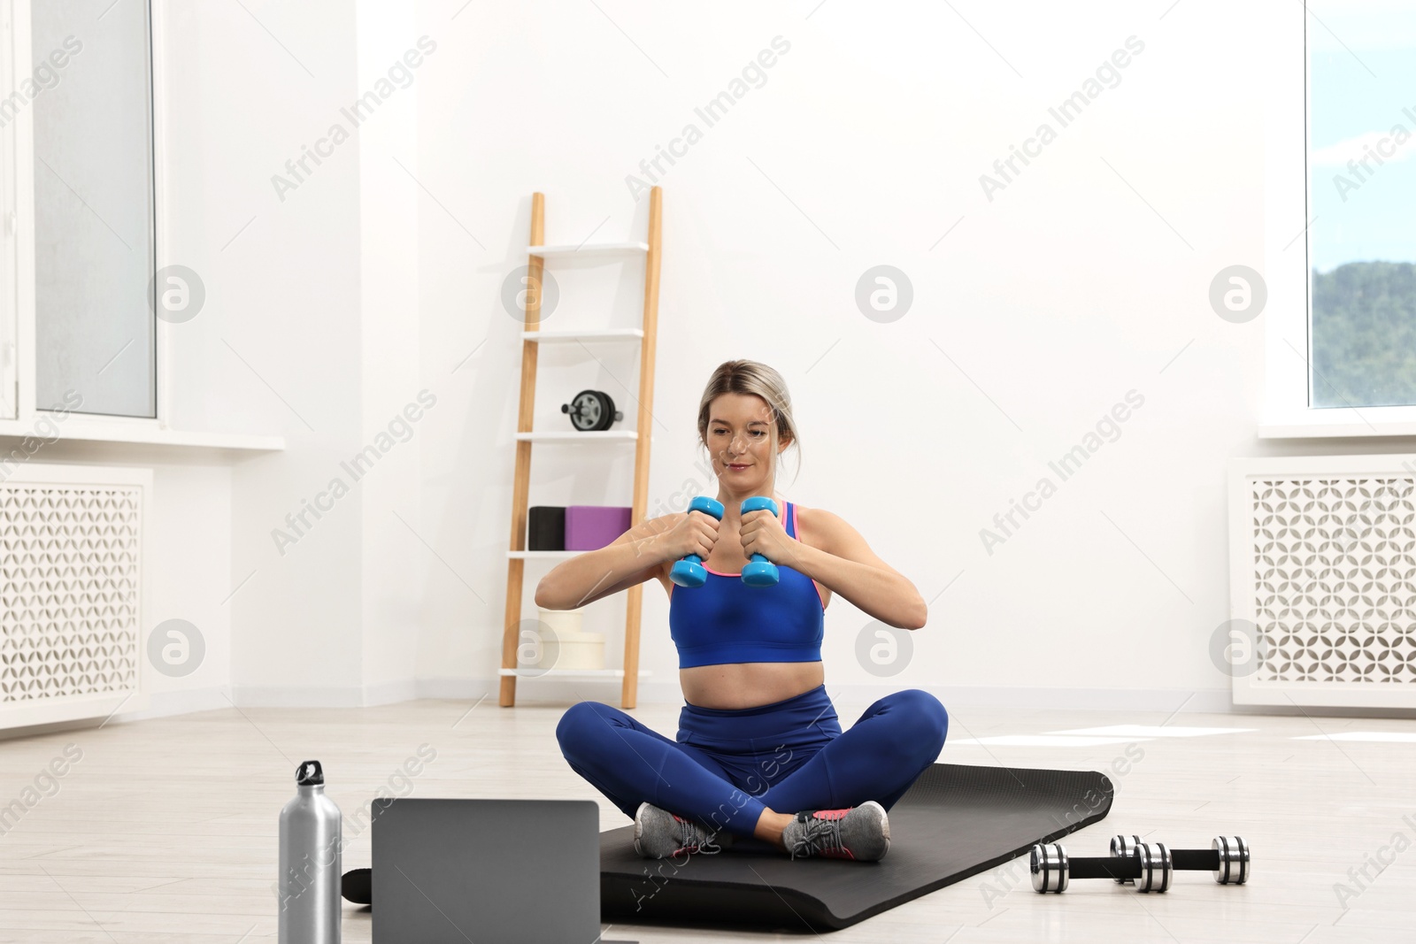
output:
M 1273 18 L 1264 102 L 1264 382 L 1260 439 L 1416 436 L 1416 406 L 1313 406 L 1311 69 L 1307 3 Z M 1300 18 L 1301 17 L 1301 18 Z M 1294 62 L 1291 52 L 1298 52 Z M 1301 72 L 1300 72 L 1301 71 Z M 1301 98 L 1293 79 L 1303 75 Z M 1301 192 L 1303 200 L 1294 200 Z

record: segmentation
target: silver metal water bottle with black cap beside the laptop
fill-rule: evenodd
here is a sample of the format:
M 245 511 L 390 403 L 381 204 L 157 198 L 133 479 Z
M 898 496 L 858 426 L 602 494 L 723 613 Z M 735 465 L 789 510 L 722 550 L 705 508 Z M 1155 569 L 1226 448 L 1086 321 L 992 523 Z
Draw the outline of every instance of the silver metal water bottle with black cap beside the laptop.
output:
M 279 944 L 340 944 L 340 808 L 324 795 L 320 761 L 295 771 L 280 811 Z

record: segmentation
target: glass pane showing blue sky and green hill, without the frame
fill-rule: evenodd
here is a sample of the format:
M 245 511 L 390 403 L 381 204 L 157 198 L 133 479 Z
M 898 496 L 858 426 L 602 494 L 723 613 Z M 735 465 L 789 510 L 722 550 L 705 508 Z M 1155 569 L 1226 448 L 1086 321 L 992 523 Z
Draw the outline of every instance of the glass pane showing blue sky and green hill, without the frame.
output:
M 1308 402 L 1416 403 L 1416 4 L 1310 0 Z

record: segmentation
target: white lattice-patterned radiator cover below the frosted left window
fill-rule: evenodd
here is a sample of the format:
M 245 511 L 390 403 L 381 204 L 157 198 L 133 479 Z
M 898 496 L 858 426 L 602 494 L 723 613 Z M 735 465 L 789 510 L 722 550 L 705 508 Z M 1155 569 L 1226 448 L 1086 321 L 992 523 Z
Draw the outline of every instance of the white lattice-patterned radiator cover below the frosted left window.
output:
M 0 727 L 146 708 L 152 481 L 150 468 L 0 463 Z

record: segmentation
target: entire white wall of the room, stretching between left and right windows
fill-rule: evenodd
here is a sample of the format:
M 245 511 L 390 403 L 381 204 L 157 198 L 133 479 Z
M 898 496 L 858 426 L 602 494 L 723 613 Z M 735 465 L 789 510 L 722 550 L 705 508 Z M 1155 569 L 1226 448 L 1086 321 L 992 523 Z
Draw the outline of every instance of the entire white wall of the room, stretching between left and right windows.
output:
M 214 627 L 210 665 L 167 682 L 181 691 L 496 693 L 521 359 L 500 289 L 525 263 L 530 197 L 547 194 L 551 242 L 640 239 L 647 201 L 624 178 L 688 122 L 702 139 L 658 181 L 649 504 L 714 491 L 694 429 L 712 368 L 782 371 L 804 463 L 779 488 L 844 517 L 932 601 L 910 665 L 879 679 L 854 654 L 868 618 L 837 596 L 833 693 L 1223 708 L 1208 644 L 1228 618 L 1225 463 L 1410 449 L 1257 442 L 1264 318 L 1229 324 L 1206 303 L 1219 269 L 1262 266 L 1262 37 L 1293 14 L 1277 0 L 248 6 L 167 16 L 170 245 L 208 290 L 176 341 L 174 419 L 287 449 L 227 464 L 71 444 L 75 461 L 164 463 L 154 613 Z M 348 125 L 341 109 L 425 35 L 436 47 L 406 88 L 280 200 L 272 175 Z M 694 109 L 779 35 L 790 50 L 765 85 L 704 129 Z M 990 201 L 980 174 L 1131 35 L 1144 51 L 1120 85 Z M 915 292 L 891 324 L 854 301 L 881 263 Z M 639 323 L 639 267 L 555 275 L 548 327 Z M 542 352 L 539 429 L 586 386 L 632 426 L 636 351 L 593 354 Z M 348 483 L 341 463 L 423 391 L 435 405 L 282 555 L 272 529 Z M 1129 391 L 1144 405 L 1119 439 L 988 553 L 980 529 Z M 629 504 L 632 473 L 629 447 L 538 446 L 531 502 Z M 527 570 L 530 617 L 545 566 Z M 588 624 L 615 667 L 622 626 L 623 597 Z M 641 696 L 678 698 L 675 665 L 650 585 Z M 619 688 L 542 679 L 518 695 L 616 702 Z

